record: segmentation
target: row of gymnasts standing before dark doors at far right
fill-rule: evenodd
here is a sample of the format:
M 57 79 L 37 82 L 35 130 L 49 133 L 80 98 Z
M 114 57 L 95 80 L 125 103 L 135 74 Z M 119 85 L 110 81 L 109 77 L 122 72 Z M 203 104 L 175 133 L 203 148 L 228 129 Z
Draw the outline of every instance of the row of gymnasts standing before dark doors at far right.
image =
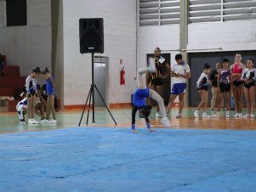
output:
M 216 79 L 216 89 L 219 94 L 218 110 L 213 116 L 209 116 L 206 113 L 208 104 L 208 88 L 210 84 L 213 86 L 213 82 L 209 83 L 208 80 L 211 67 L 210 65 L 205 64 L 202 75 L 196 82 L 197 92 L 201 94 L 201 102 L 198 104 L 198 107 L 194 112 L 194 116 L 199 117 L 199 110 L 202 108 L 203 118 L 219 117 L 220 109 L 225 105 L 225 117 L 230 118 L 230 96 L 232 93 L 236 106 L 236 114 L 234 117 L 254 118 L 256 70 L 253 68 L 253 65 L 254 60 L 252 58 L 247 59 L 246 65 L 242 64 L 241 54 L 236 54 L 234 63 L 232 63 L 232 65 L 230 65 L 229 59 L 223 59 L 222 63 L 215 70 L 216 72 L 214 75 Z M 245 115 L 242 115 L 243 95 L 245 95 L 247 101 L 247 113 Z

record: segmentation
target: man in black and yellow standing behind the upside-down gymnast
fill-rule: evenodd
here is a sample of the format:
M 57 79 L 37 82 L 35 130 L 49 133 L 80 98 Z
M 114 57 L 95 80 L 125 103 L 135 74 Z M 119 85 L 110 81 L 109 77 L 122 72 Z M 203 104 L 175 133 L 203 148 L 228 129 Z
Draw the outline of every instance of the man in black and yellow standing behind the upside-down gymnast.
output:
M 147 86 L 155 90 L 162 97 L 162 70 L 168 65 L 168 62 L 161 56 L 160 48 L 155 48 L 153 57 L 149 59 L 149 63 L 151 62 L 155 63 L 156 71 L 147 73 Z M 162 118 L 163 114 L 159 113 L 159 105 L 156 104 L 156 106 L 156 117 Z

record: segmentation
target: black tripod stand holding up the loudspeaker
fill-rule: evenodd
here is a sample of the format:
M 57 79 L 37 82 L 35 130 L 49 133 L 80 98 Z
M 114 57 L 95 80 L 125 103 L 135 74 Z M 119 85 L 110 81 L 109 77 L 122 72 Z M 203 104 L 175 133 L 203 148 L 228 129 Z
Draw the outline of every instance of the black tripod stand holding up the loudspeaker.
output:
M 93 122 L 95 122 L 95 121 L 94 121 L 94 88 L 96 89 L 97 93 L 99 93 L 100 99 L 102 100 L 102 102 L 103 102 L 104 105 L 105 105 L 105 108 L 108 110 L 109 114 L 111 115 L 112 120 L 113 120 L 113 121 L 115 122 L 115 124 L 117 125 L 117 122 L 115 121 L 114 117 L 113 117 L 112 114 L 111 114 L 111 111 L 109 110 L 109 108 L 108 108 L 107 105 L 105 104 L 105 100 L 102 98 L 99 89 L 98 89 L 97 86 L 94 84 L 94 53 L 92 53 L 92 84 L 91 84 L 91 88 L 90 88 L 90 90 L 89 90 L 88 97 L 87 97 L 87 99 L 86 99 L 86 102 L 85 102 L 84 107 L 83 107 L 83 110 L 82 110 L 82 116 L 83 116 L 84 110 L 85 110 L 85 108 L 86 108 L 86 105 L 87 105 L 88 99 L 89 99 L 86 125 L 88 125 L 88 116 L 89 116 L 89 113 L 90 113 L 91 100 L 93 100 L 93 104 L 92 104 L 92 106 L 93 106 L 93 107 L 92 107 L 92 109 L 93 109 Z M 93 98 L 93 99 L 92 99 L 92 98 Z M 81 118 L 80 118 L 78 127 L 80 127 L 80 125 L 81 125 L 82 116 L 81 116 Z

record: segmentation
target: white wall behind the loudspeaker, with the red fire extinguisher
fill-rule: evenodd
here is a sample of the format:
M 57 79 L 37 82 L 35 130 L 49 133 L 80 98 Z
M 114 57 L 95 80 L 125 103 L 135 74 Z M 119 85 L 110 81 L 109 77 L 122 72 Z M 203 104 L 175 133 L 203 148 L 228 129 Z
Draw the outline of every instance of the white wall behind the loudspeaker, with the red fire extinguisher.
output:
M 105 53 L 109 57 L 107 103 L 128 103 L 136 88 L 136 0 L 63 0 L 64 104 L 84 104 L 91 84 L 91 54 L 80 54 L 79 19 L 104 18 Z M 119 59 L 126 85 L 119 85 Z

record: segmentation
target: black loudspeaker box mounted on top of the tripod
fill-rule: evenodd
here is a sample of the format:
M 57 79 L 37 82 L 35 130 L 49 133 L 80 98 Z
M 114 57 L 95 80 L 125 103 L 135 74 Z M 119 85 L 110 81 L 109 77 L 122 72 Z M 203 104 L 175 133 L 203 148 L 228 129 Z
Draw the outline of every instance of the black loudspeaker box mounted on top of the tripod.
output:
M 103 18 L 79 20 L 80 53 L 103 53 Z

